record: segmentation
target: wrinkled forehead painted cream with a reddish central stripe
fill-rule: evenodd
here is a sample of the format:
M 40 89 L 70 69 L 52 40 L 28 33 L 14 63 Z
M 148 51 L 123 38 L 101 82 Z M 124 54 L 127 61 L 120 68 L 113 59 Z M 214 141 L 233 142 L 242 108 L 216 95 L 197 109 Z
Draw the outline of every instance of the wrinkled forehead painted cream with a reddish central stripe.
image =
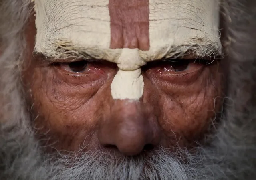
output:
M 50 57 L 59 47 L 109 61 L 124 48 L 148 60 L 221 49 L 218 0 L 35 0 L 35 11 L 35 49 Z

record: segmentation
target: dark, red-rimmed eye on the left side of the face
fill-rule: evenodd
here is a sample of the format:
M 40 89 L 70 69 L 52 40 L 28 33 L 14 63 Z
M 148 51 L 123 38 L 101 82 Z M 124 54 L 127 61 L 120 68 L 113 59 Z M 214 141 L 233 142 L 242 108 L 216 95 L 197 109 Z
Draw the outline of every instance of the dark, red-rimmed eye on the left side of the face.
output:
M 60 67 L 72 73 L 83 73 L 87 71 L 87 61 L 60 63 Z

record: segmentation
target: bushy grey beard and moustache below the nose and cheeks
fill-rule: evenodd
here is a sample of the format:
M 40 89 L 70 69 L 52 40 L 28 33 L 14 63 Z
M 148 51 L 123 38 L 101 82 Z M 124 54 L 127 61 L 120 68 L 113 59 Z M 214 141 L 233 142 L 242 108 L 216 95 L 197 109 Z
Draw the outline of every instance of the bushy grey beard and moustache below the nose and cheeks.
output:
M 208 145 L 198 145 L 193 154 L 181 148 L 171 152 L 160 147 L 152 153 L 123 158 L 99 150 L 83 152 L 83 148 L 68 155 L 58 152 L 56 158 L 44 153 L 30 128 L 8 123 L 0 127 L 1 180 L 253 180 L 256 177 L 252 134 L 241 133 L 231 123 L 222 123 L 207 138 Z M 245 125 L 244 128 L 249 129 Z M 250 137 L 247 139 L 250 141 L 245 137 Z

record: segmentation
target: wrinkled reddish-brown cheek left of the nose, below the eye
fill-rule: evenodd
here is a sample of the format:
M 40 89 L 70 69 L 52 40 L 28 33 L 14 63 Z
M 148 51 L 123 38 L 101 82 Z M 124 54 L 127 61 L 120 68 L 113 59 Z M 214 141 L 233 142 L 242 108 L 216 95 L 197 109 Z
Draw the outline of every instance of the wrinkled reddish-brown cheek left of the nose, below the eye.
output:
M 53 81 L 41 77 L 43 75 L 34 78 L 30 87 L 31 123 L 38 135 L 36 137 L 40 139 L 41 145 L 47 146 L 47 151 L 52 150 L 52 144 L 60 150 L 67 147 L 76 150 L 79 144 L 83 144 L 85 134 L 89 137 L 92 131 L 94 124 L 87 121 L 87 117 L 93 118 L 91 113 L 94 112 L 85 114 L 83 100 L 61 95 Z

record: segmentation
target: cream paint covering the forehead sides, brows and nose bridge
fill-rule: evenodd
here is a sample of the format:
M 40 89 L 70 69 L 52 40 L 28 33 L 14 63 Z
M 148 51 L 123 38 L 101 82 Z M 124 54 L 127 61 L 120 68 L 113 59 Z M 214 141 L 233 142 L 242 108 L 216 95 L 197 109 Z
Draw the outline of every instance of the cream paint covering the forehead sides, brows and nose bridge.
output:
M 144 83 L 140 68 L 148 61 L 173 57 L 190 48 L 194 48 L 196 56 L 221 51 L 218 0 L 149 0 L 148 51 L 110 49 L 108 0 L 34 2 L 35 51 L 52 58 L 86 54 L 117 63 L 120 70 L 111 85 L 114 99 L 142 97 Z M 66 51 L 56 48 L 63 47 L 63 41 L 68 45 L 63 48 Z

